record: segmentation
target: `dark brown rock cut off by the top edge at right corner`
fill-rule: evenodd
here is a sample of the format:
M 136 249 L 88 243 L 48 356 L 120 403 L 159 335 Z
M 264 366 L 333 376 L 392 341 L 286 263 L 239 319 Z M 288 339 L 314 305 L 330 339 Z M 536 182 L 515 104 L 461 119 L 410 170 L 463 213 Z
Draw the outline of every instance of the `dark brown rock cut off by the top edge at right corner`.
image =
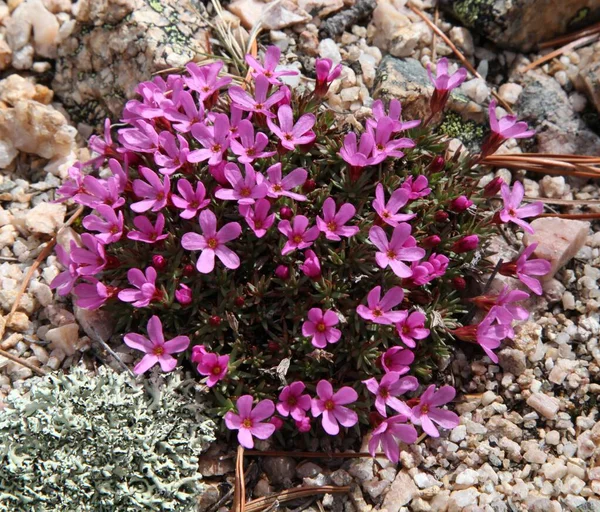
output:
M 441 0 L 440 5 L 499 45 L 523 51 L 600 17 L 598 0 Z

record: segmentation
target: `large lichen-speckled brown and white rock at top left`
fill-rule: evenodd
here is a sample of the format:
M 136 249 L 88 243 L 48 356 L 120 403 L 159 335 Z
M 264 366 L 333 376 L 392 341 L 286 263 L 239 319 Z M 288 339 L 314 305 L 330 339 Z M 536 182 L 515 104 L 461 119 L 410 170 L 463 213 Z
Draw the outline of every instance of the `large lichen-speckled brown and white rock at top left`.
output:
M 139 82 L 202 59 L 208 33 L 196 7 L 203 8 L 178 0 L 80 0 L 52 87 L 73 118 L 98 124 L 120 117 Z

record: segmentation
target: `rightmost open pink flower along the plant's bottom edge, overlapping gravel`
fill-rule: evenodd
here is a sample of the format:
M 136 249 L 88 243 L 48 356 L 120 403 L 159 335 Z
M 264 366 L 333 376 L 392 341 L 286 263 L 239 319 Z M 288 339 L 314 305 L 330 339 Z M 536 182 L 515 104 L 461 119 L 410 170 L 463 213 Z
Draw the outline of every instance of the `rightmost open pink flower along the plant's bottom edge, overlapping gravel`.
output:
M 434 423 L 444 429 L 453 429 L 460 421 L 456 413 L 440 409 L 440 405 L 454 400 L 456 390 L 452 386 L 442 386 L 435 391 L 435 385 L 429 386 L 419 398 L 419 405 L 412 408 L 411 421 L 421 425 L 423 431 L 431 437 L 439 437 L 440 433 Z

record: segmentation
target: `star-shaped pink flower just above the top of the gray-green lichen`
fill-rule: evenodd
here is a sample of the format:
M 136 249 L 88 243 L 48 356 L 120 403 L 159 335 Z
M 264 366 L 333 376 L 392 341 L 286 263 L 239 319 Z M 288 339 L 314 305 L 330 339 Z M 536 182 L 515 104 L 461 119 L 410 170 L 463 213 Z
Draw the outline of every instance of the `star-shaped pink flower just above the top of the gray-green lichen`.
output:
M 150 339 L 141 334 L 129 333 L 124 338 L 125 345 L 146 353 L 133 369 L 133 373 L 136 375 L 147 372 L 156 363 L 160 364 L 163 372 L 172 371 L 177 366 L 177 359 L 171 354 L 183 352 L 190 344 L 190 339 L 187 336 L 177 336 L 165 341 L 162 323 L 156 315 L 148 320 L 148 337 Z

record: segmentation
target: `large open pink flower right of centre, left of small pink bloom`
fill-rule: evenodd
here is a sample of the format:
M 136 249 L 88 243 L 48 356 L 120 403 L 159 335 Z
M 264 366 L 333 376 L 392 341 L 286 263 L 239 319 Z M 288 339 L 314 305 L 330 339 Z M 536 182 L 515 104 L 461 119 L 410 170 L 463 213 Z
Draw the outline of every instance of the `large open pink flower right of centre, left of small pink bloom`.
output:
M 369 240 L 373 242 L 379 251 L 375 254 L 375 260 L 381 268 L 389 265 L 398 277 L 410 277 L 412 270 L 404 261 L 418 261 L 425 256 L 425 251 L 416 247 L 416 240 L 410 236 L 411 227 L 404 222 L 394 228 L 392 238 L 388 242 L 385 231 L 379 226 L 373 226 L 369 230 Z

